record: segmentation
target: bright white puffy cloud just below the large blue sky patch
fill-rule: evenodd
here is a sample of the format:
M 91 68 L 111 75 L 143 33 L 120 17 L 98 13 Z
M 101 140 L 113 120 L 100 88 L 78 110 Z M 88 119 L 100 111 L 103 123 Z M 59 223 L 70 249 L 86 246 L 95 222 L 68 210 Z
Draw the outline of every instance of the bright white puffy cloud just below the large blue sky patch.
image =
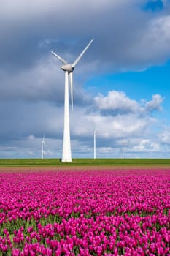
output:
M 142 138 L 156 122 L 152 118 L 152 110 L 158 111 L 162 103 L 160 95 L 153 95 L 152 101 L 145 103 L 150 107 L 148 109 L 147 106 L 146 111 L 141 102 L 136 102 L 119 91 L 109 91 L 106 97 L 100 94 L 94 99 L 97 108 L 75 108 L 71 114 L 74 137 L 89 138 L 93 136 L 93 129 L 98 129 L 98 138 L 106 140 Z

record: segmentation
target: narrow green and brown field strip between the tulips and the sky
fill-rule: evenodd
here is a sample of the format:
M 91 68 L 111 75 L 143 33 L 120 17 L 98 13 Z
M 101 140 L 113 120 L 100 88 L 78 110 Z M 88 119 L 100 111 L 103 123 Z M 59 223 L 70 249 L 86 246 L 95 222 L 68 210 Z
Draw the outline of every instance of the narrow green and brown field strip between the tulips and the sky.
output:
M 0 159 L 0 167 L 169 167 L 170 159 Z

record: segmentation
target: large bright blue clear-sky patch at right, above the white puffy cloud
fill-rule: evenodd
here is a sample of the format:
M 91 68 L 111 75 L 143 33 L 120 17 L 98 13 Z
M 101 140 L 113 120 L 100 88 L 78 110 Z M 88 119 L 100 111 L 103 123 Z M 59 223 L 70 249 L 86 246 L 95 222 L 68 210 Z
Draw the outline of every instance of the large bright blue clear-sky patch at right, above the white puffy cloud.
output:
M 163 102 L 162 106 L 166 112 L 166 110 L 170 109 L 169 71 L 170 61 L 167 61 L 160 66 L 150 67 L 137 72 L 115 72 L 101 76 L 96 75 L 89 79 L 85 86 L 90 90 L 91 87 L 93 89 L 93 84 L 96 83 L 97 87 L 95 90 L 93 89 L 93 93 L 95 94 L 97 91 L 106 94 L 107 88 L 107 90 L 125 91 L 128 97 L 136 100 L 149 100 L 152 94 L 156 92 L 161 94 L 162 97 L 165 97 L 166 100 Z

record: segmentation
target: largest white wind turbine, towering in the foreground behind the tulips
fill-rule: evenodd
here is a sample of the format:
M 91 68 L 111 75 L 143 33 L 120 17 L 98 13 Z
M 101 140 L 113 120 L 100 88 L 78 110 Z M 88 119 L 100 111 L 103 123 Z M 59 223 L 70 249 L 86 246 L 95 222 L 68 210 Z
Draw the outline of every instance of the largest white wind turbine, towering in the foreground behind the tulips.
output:
M 69 127 L 69 83 L 70 83 L 70 91 L 71 91 L 71 103 L 73 110 L 73 78 L 72 72 L 74 71 L 74 67 L 80 61 L 83 54 L 86 50 L 88 50 L 90 44 L 93 42 L 93 39 L 88 43 L 82 53 L 77 57 L 77 59 L 69 64 L 65 59 L 58 56 L 56 53 L 51 51 L 55 57 L 57 57 L 63 65 L 61 69 L 65 72 L 65 95 L 64 95 L 64 122 L 63 122 L 63 154 L 62 154 L 62 162 L 72 162 L 72 153 L 71 153 L 71 143 L 70 143 L 70 127 Z

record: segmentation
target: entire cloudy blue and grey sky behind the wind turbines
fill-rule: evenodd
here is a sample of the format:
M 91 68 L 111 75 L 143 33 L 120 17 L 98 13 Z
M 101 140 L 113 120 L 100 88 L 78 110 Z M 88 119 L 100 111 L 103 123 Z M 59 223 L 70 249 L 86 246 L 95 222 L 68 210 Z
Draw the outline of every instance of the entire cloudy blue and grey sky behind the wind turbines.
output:
M 0 158 L 61 158 L 73 62 L 73 158 L 170 158 L 170 0 L 0 3 Z

